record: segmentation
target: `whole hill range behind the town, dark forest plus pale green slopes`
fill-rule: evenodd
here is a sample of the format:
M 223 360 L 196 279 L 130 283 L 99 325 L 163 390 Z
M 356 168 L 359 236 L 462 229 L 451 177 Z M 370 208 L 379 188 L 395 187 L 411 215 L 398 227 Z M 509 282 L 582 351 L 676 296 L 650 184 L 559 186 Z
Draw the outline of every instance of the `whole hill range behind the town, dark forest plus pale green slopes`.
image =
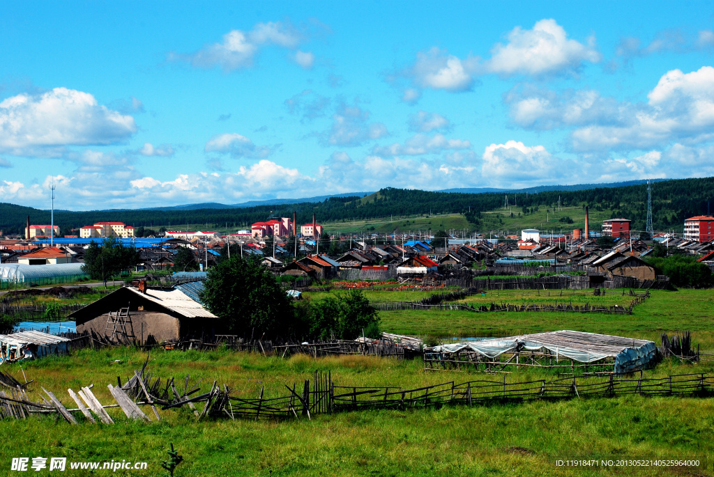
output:
M 183 230 L 196 227 L 235 230 L 271 216 L 288 217 L 295 210 L 298 222 L 311 222 L 312 214 L 315 213 L 318 222 L 328 225 L 330 230 L 371 231 L 371 227 L 378 232 L 450 228 L 487 232 L 524 227 L 543 230 L 558 230 L 558 227 L 562 227 L 563 230 L 569 230 L 583 226 L 583 207 L 589 205 L 594 230 L 599 228 L 597 222 L 613 217 L 632 220 L 633 230 L 645 229 L 647 185 L 644 184 L 508 193 L 507 210 L 503 208 L 505 198 L 506 194 L 503 193 L 443 193 L 386 188 L 366 197 L 331 197 L 322 202 L 257 205 L 239 209 L 58 211 L 55 212 L 55 223 L 63 233 L 102 220 L 154 229 L 164 226 Z M 652 202 L 655 230 L 672 229 L 681 232 L 685 218 L 706 214 L 710 201 L 714 202 L 714 178 L 654 183 Z M 27 215 L 35 224 L 49 222 L 49 211 L 0 203 L 0 230 L 6 234 L 20 233 L 24 230 Z M 570 217 L 573 223 L 565 217 Z

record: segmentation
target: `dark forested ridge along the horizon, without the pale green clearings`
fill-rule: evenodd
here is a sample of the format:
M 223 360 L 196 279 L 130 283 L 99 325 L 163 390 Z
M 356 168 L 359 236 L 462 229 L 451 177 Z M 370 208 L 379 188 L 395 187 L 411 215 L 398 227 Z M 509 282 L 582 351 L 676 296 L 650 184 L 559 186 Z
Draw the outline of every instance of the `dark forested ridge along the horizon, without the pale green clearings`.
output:
M 588 190 L 543 191 L 508 194 L 514 211 L 525 213 L 531 207 L 589 205 L 594 210 L 612 210 L 613 217 L 633 220 L 634 230 L 645 229 L 647 216 L 647 185 Z M 291 216 L 298 213 L 298 222 L 319 222 L 370 219 L 374 217 L 406 216 L 436 213 L 461 213 L 478 230 L 479 212 L 503 207 L 503 193 L 436 193 L 423 190 L 386 188 L 364 198 L 357 196 L 329 198 L 323 202 L 303 202 L 287 205 L 258 205 L 239 209 L 201 210 L 106 210 L 89 212 L 55 212 L 55 223 L 62 233 L 99 221 L 125 222 L 135 227 L 185 228 L 186 224 L 216 224 L 229 228 L 245 227 L 268 217 Z M 655 230 L 681 230 L 686 217 L 707 213 L 708 202 L 714 205 L 714 178 L 665 180 L 652 185 Z M 34 224 L 49 223 L 49 210 L 37 210 L 0 203 L 0 230 L 6 234 L 24 230 L 26 216 Z

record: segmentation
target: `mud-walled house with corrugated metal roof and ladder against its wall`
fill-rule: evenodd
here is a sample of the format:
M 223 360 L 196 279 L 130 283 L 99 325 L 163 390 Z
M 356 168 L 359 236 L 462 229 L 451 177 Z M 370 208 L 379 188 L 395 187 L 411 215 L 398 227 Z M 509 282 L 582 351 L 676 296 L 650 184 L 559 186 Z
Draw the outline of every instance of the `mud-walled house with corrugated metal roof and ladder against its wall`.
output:
M 117 333 L 125 334 L 130 341 L 143 344 L 211 337 L 222 329 L 216 315 L 201 303 L 202 291 L 202 281 L 166 288 L 140 282 L 138 287 L 117 289 L 69 318 L 76 321 L 78 333 L 110 339 L 116 339 Z

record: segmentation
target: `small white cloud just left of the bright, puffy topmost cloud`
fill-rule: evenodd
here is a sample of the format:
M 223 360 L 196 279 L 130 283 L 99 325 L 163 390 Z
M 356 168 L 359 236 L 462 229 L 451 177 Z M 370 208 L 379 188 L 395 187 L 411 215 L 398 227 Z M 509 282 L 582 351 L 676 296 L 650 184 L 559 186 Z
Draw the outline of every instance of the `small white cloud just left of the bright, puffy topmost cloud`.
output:
M 433 47 L 416 54 L 416 63 L 411 75 L 421 88 L 443 89 L 446 91 L 468 91 L 473 86 L 476 58 L 460 59 L 446 50 Z

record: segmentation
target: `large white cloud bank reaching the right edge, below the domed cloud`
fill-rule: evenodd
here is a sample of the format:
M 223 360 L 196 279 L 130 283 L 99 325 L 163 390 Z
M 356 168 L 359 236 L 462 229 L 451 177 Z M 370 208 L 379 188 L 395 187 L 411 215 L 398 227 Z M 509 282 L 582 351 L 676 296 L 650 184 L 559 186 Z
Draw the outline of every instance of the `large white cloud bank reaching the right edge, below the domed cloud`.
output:
M 598 91 L 560 93 L 531 86 L 503 96 L 511 120 L 524 128 L 575 127 L 570 143 L 578 152 L 647 150 L 670 143 L 705 143 L 714 138 L 714 68 L 665 73 L 648 101 L 630 103 Z

